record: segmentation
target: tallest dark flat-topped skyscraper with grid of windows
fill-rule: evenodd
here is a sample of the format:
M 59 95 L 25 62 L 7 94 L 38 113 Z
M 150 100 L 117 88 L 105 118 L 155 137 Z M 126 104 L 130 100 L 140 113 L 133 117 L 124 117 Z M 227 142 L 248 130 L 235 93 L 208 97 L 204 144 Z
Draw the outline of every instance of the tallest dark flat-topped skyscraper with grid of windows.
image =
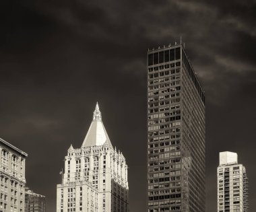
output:
M 148 50 L 148 212 L 205 212 L 205 96 L 182 44 Z

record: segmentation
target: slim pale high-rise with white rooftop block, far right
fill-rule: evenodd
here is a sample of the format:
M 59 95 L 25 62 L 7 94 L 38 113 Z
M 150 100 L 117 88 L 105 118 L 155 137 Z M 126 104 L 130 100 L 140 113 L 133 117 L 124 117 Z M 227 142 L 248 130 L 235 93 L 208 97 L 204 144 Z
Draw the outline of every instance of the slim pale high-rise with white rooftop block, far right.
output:
M 218 212 L 247 212 L 248 178 L 245 166 L 238 164 L 237 154 L 220 152 L 218 178 Z

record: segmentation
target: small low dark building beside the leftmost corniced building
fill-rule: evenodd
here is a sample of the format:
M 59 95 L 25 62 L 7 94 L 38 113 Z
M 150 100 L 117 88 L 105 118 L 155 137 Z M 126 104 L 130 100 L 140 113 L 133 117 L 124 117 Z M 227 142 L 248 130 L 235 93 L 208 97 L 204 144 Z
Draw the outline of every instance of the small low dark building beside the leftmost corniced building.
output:
M 36 194 L 28 187 L 26 187 L 25 189 L 25 212 L 45 212 L 45 196 Z

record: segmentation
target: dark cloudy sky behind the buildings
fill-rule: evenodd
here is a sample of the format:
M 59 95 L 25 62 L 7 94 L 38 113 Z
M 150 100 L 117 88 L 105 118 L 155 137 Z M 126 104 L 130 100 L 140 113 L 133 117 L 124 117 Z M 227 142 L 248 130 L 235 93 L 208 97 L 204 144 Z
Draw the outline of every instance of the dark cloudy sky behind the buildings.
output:
M 127 159 L 130 211 L 146 211 L 146 55 L 181 36 L 205 90 L 207 212 L 220 151 L 238 153 L 256 208 L 255 0 L 2 0 L 0 26 L 0 137 L 28 153 L 27 185 L 47 212 L 97 101 Z

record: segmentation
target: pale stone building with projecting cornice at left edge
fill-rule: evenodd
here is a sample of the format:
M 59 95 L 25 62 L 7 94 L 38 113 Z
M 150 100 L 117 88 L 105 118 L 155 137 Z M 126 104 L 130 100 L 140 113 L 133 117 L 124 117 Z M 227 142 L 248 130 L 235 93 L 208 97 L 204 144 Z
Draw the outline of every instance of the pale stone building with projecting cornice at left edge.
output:
M 27 153 L 0 139 L 0 212 L 24 212 Z

